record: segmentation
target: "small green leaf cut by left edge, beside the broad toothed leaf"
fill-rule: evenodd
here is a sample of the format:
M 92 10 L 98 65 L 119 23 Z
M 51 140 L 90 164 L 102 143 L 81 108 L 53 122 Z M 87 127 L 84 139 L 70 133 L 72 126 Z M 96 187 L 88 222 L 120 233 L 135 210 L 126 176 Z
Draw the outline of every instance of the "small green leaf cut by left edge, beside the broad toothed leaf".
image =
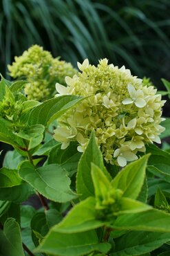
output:
M 21 185 L 21 178 L 17 170 L 10 170 L 6 167 L 0 169 L 0 188 L 10 188 Z

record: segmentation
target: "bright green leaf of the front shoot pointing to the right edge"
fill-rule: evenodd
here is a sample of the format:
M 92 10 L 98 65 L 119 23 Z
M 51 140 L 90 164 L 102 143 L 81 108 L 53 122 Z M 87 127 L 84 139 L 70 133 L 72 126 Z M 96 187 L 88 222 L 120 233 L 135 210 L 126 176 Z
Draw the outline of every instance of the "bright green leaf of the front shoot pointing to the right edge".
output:
M 170 214 L 156 209 L 134 214 L 123 214 L 111 224 L 111 227 L 120 230 L 170 232 Z

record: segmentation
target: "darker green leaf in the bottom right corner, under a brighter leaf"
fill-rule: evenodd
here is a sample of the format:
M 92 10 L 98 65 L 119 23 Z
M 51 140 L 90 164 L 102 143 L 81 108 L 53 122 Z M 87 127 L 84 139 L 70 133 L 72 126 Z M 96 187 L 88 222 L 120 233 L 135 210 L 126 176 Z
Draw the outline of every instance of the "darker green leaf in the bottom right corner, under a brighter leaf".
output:
M 115 239 L 114 253 L 111 256 L 143 255 L 162 246 L 170 240 L 170 233 L 130 231 Z

